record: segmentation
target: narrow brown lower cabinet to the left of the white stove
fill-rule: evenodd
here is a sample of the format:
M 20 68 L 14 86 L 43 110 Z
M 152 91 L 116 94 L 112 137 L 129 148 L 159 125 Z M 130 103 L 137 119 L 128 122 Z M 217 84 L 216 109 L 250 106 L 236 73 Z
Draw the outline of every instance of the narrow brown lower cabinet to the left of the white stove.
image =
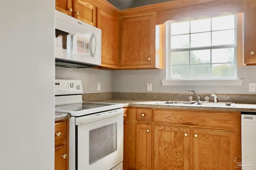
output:
M 68 130 L 69 119 L 55 122 L 55 170 L 68 170 Z

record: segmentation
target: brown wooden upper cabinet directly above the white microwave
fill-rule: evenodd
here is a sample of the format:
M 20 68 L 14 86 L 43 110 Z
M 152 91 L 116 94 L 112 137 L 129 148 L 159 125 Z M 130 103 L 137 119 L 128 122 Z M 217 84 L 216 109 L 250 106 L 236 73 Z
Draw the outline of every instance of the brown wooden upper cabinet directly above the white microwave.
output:
M 96 26 L 96 6 L 89 0 L 55 0 L 55 9 Z

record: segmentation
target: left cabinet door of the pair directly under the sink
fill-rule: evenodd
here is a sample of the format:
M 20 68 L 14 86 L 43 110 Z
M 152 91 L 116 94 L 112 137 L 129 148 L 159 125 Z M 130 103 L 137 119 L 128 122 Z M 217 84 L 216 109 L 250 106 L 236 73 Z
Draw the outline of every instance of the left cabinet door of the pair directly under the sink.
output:
M 189 131 L 186 127 L 154 126 L 154 170 L 190 169 Z

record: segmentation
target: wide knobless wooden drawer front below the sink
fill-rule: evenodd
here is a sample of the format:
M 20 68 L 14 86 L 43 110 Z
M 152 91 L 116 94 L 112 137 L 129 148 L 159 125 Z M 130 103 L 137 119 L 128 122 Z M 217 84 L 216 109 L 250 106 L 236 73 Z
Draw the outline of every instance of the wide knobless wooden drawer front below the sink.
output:
M 236 128 L 236 112 L 155 110 L 154 121 L 203 127 Z

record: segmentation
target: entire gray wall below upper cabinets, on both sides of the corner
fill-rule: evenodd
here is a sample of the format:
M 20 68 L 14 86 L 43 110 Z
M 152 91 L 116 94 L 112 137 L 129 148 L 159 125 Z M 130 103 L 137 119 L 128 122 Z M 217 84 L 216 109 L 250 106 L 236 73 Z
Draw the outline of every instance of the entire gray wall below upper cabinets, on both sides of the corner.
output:
M 82 79 L 84 93 L 188 93 L 188 89 L 194 89 L 198 93 L 256 94 L 249 92 L 249 82 L 256 82 L 256 66 L 238 67 L 238 78 L 244 79 L 242 86 L 162 86 L 165 77 L 164 69 L 109 71 L 56 67 L 56 78 Z M 97 83 L 101 83 L 101 91 L 97 91 Z M 152 91 L 146 91 L 147 83 L 152 83 Z

